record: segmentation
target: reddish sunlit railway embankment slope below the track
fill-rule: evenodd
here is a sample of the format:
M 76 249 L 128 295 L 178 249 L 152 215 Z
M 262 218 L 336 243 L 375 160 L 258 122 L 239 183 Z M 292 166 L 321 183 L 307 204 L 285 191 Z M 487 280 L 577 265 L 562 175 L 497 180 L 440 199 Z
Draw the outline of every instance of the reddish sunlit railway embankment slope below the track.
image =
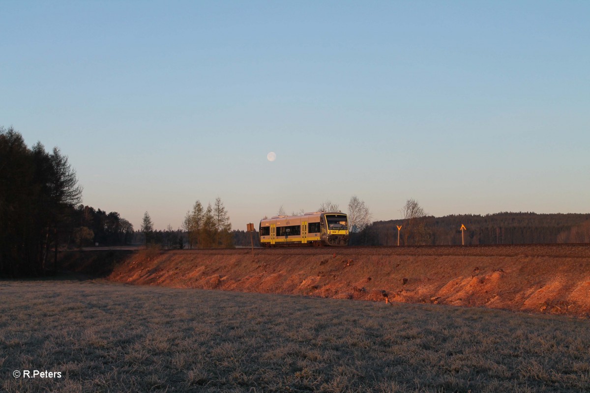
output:
M 590 316 L 590 245 L 143 250 L 109 279 Z

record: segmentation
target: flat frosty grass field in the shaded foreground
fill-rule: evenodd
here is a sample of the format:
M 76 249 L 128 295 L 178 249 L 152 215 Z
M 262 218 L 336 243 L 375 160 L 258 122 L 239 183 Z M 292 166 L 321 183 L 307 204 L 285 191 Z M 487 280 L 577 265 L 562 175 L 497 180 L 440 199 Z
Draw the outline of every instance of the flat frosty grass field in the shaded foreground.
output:
M 4 392 L 590 390 L 586 319 L 106 280 L 5 280 L 0 299 Z

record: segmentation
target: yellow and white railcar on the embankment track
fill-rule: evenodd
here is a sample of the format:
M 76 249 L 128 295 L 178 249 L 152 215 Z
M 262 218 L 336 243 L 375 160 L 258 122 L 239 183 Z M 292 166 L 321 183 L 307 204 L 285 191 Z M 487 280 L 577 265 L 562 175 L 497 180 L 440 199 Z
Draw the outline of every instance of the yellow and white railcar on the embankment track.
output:
M 303 216 L 274 216 L 260 220 L 260 245 L 346 246 L 348 217 L 340 212 L 313 212 Z

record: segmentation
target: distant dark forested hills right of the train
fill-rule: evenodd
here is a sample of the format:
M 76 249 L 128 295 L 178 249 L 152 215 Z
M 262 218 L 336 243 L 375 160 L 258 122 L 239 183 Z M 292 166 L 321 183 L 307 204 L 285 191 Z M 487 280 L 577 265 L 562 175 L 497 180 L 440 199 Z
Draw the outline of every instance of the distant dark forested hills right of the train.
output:
M 452 214 L 422 217 L 425 236 L 411 245 L 460 245 L 463 224 L 466 245 L 513 245 L 527 243 L 588 243 L 590 214 L 512 213 Z M 404 220 L 376 221 L 355 234 L 352 244 L 394 246 L 398 229 L 404 232 Z M 401 236 L 401 245 L 404 236 Z

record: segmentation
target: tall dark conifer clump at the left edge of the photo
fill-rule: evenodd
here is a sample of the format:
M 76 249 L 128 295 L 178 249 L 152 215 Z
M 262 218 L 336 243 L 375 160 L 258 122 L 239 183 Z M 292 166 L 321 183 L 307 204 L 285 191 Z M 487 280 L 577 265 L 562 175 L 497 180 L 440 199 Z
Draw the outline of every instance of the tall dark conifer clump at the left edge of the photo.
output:
M 0 127 L 0 276 L 39 275 L 57 262 L 68 212 L 82 187 L 68 158 L 38 142 L 28 148 L 14 128 Z

